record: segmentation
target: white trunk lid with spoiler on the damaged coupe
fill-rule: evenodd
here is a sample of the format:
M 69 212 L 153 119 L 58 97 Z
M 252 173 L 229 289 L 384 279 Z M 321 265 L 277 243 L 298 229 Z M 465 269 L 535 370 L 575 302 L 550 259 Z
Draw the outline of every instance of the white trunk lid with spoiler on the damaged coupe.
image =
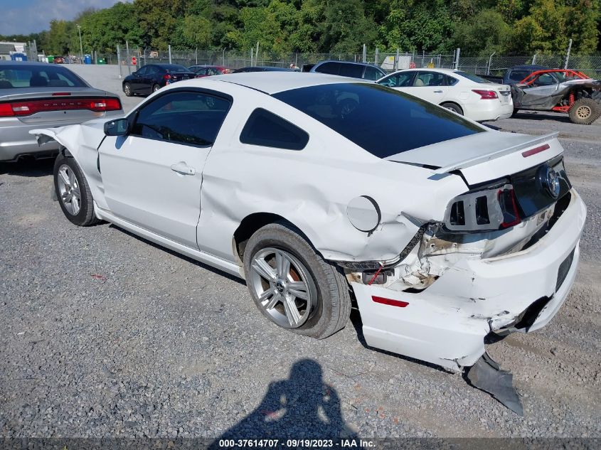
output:
M 558 133 L 546 136 L 497 132 L 471 134 L 388 156 L 388 160 L 430 168 L 430 178 L 459 171 L 469 186 L 543 164 L 563 153 Z

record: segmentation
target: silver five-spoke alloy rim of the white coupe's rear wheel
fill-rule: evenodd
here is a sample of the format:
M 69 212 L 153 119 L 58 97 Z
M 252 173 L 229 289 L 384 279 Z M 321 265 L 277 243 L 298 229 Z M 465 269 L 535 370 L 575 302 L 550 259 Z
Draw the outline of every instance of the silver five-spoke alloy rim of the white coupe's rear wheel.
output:
M 260 308 L 284 328 L 302 326 L 317 306 L 317 289 L 307 267 L 272 247 L 257 252 L 250 267 L 250 287 Z

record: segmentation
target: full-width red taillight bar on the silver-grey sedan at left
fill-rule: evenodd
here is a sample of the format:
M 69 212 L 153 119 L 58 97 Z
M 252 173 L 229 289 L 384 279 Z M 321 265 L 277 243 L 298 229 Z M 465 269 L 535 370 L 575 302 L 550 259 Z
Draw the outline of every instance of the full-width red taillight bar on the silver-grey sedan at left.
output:
M 88 109 L 93 112 L 119 111 L 121 101 L 117 98 L 69 98 L 0 103 L 0 117 L 22 117 L 31 116 L 37 112 L 77 109 Z

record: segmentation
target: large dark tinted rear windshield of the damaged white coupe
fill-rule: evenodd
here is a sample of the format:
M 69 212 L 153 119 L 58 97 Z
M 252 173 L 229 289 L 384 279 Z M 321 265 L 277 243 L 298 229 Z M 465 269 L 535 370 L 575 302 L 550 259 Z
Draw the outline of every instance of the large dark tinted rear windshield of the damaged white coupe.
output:
M 447 109 L 376 84 L 301 87 L 273 97 L 379 158 L 484 131 Z

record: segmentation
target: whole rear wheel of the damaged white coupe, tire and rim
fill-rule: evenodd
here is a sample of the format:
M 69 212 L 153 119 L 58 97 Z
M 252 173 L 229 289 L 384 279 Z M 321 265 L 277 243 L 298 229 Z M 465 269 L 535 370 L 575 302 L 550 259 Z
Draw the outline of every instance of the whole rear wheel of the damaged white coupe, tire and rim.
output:
M 255 232 L 244 271 L 255 305 L 282 328 L 322 339 L 349 319 L 351 296 L 341 269 L 317 255 L 292 225 L 272 223 Z

